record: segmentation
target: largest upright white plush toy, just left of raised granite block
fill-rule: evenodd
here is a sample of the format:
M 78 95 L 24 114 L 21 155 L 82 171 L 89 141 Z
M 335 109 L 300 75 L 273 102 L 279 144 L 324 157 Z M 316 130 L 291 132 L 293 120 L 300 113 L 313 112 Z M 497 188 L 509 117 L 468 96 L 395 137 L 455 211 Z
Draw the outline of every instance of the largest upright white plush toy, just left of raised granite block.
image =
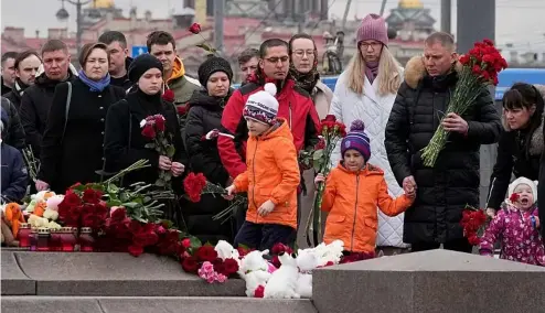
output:
M 265 285 L 264 298 L 299 299 L 300 295 L 296 291 L 299 269 L 295 255 L 280 252 L 278 259 L 281 266 L 270 276 Z

